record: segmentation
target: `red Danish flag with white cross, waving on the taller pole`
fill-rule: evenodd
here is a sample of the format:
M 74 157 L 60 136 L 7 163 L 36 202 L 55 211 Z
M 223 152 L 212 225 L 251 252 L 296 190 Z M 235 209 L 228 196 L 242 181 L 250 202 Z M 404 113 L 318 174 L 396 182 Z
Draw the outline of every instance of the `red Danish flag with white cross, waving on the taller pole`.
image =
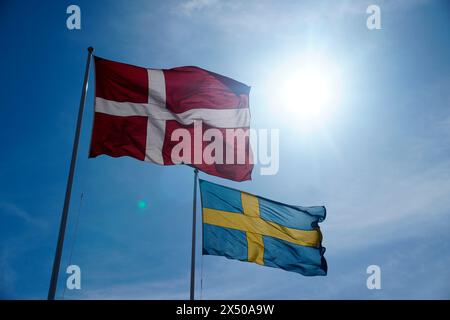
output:
M 146 69 L 99 57 L 95 80 L 90 157 L 185 163 L 251 179 L 247 85 L 198 67 Z

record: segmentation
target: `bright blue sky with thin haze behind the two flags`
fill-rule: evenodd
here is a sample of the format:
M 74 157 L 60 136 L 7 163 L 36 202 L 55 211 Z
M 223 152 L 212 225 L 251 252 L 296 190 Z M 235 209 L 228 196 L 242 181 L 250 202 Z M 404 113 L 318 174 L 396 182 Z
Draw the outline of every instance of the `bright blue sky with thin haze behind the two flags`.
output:
M 66 27 L 71 4 L 80 30 Z M 380 30 L 366 26 L 371 4 Z M 2 0 L 0 36 L 1 299 L 47 297 L 88 46 L 250 85 L 252 127 L 279 130 L 278 173 L 200 178 L 327 208 L 326 277 L 202 257 L 198 242 L 197 298 L 450 298 L 448 1 Z M 310 64 L 335 75 L 320 121 L 280 94 Z M 88 159 L 93 83 L 91 72 L 57 298 L 187 299 L 192 169 Z M 70 264 L 80 290 L 64 290 Z

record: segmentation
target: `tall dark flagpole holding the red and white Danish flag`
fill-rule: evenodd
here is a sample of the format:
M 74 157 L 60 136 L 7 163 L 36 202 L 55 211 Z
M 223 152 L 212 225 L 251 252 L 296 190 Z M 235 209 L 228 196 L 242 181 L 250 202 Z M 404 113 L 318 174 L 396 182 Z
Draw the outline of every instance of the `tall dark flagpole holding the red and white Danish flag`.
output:
M 80 107 L 78 109 L 77 127 L 75 129 L 75 138 L 72 148 L 72 159 L 70 161 L 69 176 L 67 178 L 66 196 L 64 198 L 64 207 L 61 215 L 61 223 L 59 226 L 58 243 L 56 246 L 55 259 L 53 260 L 52 277 L 50 280 L 50 287 L 48 289 L 48 300 L 55 300 L 56 287 L 58 284 L 59 268 L 61 264 L 62 250 L 64 246 L 64 235 L 66 232 L 67 216 L 69 213 L 70 196 L 72 193 L 73 175 L 75 172 L 75 165 L 77 162 L 78 143 L 80 140 L 81 122 L 83 118 L 84 105 L 86 102 L 87 84 L 89 79 L 89 67 L 91 64 L 91 57 L 94 48 L 88 48 L 88 58 L 86 62 L 86 69 L 84 72 L 83 89 L 81 91 Z

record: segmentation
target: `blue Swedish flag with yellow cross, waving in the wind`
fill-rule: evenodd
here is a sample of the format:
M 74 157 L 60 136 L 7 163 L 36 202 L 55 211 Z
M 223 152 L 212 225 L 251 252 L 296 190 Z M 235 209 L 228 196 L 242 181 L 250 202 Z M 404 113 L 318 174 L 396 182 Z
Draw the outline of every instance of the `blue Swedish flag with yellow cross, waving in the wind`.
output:
M 325 207 L 300 207 L 200 179 L 203 254 L 324 276 Z

